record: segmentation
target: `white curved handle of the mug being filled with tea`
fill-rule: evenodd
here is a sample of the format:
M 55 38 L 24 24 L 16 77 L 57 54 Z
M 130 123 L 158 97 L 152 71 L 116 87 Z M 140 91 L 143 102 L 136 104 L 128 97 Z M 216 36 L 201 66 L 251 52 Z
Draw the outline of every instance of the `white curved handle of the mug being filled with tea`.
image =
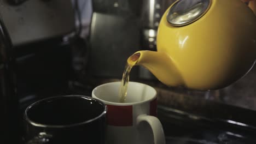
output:
M 147 124 L 143 124 L 143 122 L 146 122 Z M 148 133 L 148 129 L 151 128 L 154 137 L 154 144 L 165 144 L 164 130 L 162 129 L 162 124 L 158 118 L 149 115 L 139 115 L 137 117 L 136 126 L 139 129 L 140 136 L 143 136 L 145 133 Z M 148 127 L 148 129 L 146 127 Z M 149 137 L 144 135 L 145 140 L 148 138 Z

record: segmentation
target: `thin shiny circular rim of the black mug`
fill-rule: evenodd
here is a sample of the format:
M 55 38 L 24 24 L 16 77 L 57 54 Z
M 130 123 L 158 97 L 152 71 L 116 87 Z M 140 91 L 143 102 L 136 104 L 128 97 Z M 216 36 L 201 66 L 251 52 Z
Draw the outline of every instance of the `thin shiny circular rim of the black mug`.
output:
M 49 99 L 55 99 L 55 98 L 64 98 L 64 97 L 79 97 L 79 98 L 88 98 L 88 99 L 93 99 L 93 100 L 96 100 L 98 101 L 98 103 L 102 104 L 104 106 L 104 110 L 103 112 L 98 115 L 97 117 L 95 118 L 92 118 L 92 119 L 89 119 L 87 121 L 84 121 L 84 122 L 80 122 L 80 123 L 74 123 L 74 124 L 66 124 L 66 125 L 50 125 L 50 124 L 43 124 L 43 123 L 37 123 L 37 122 L 34 122 L 32 121 L 28 115 L 27 115 L 27 111 L 31 109 L 32 106 L 34 105 L 39 105 L 40 103 L 42 103 L 43 101 L 46 101 L 46 100 L 49 100 Z M 78 126 L 78 125 L 82 125 L 82 124 L 86 124 L 86 123 L 90 123 L 92 121 L 95 121 L 96 119 L 98 118 L 101 118 L 103 115 L 105 115 L 107 112 L 107 106 L 106 104 L 104 104 L 101 100 L 98 100 L 98 99 L 95 99 L 95 98 L 92 98 L 92 97 L 89 97 L 89 96 L 85 96 L 85 95 L 61 95 L 61 96 L 55 96 L 55 97 L 49 97 L 49 98 L 45 98 L 45 99 L 42 99 L 42 100 L 38 100 L 36 102 L 34 102 L 33 104 L 29 105 L 25 112 L 24 112 L 24 119 L 36 126 L 36 127 L 43 127 L 43 128 L 67 128 L 67 127 L 75 127 L 75 126 Z

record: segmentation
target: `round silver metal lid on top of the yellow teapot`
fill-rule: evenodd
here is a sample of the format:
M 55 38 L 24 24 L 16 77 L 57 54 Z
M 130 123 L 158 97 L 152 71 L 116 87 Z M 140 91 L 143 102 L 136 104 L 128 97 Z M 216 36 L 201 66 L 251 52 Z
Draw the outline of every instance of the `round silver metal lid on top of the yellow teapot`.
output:
M 172 26 L 185 26 L 200 19 L 210 8 L 211 0 L 179 0 L 167 13 Z

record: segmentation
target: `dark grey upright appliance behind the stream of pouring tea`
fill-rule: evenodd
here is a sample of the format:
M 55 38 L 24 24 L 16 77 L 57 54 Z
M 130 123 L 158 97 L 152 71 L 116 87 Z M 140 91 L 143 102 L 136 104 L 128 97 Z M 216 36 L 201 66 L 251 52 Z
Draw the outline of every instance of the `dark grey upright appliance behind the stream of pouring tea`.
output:
M 140 49 L 141 1 L 92 1 L 89 71 L 94 77 L 121 79 L 127 58 Z M 130 78 L 138 77 L 138 69 Z

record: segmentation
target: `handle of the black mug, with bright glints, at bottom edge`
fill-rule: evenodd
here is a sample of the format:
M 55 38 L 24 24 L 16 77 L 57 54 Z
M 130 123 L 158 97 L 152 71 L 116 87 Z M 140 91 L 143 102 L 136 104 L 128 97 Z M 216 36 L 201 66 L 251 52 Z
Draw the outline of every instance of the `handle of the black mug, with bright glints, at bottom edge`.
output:
M 39 133 L 38 136 L 33 137 L 26 144 L 50 144 L 53 136 L 44 132 Z

